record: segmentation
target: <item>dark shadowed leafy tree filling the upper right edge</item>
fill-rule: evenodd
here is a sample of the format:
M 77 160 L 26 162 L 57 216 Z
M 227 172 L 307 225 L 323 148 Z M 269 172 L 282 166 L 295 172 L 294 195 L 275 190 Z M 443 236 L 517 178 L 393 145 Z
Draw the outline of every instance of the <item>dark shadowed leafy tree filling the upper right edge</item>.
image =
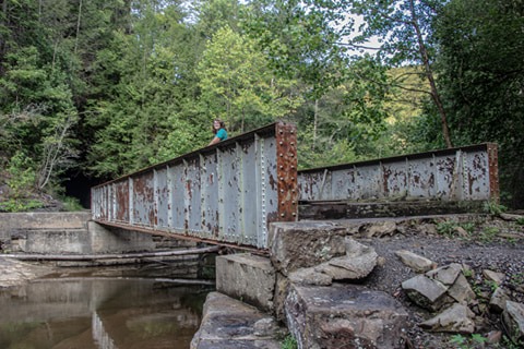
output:
M 504 200 L 524 205 L 524 7 L 453 0 L 437 21 L 439 86 L 455 142 L 497 142 Z

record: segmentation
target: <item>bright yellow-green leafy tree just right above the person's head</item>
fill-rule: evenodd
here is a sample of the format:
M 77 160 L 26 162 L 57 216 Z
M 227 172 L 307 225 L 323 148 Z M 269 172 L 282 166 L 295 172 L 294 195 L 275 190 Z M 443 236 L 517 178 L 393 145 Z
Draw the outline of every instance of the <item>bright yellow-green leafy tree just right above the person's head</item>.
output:
M 293 81 L 272 74 L 254 41 L 229 27 L 219 29 L 198 68 L 201 103 L 210 121 L 217 117 L 230 131 L 246 132 L 282 118 L 300 103 Z

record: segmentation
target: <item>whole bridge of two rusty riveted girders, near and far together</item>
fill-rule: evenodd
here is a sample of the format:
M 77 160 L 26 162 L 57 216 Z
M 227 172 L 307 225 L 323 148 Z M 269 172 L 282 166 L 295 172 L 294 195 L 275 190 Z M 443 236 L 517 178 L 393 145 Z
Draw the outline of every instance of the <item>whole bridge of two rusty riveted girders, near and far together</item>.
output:
M 266 250 L 300 202 L 499 200 L 491 143 L 297 171 L 297 132 L 276 122 L 92 189 L 93 220 Z

